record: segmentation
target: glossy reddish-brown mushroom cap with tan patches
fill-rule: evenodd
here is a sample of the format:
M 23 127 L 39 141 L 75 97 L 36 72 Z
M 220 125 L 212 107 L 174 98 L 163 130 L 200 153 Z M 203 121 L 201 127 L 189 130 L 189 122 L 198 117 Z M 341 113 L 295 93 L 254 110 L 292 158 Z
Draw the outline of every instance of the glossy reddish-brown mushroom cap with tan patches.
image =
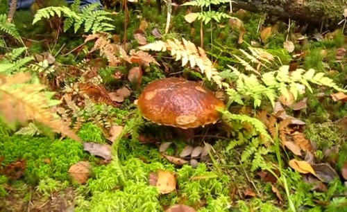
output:
M 137 107 L 154 123 L 187 129 L 216 123 L 224 103 L 197 82 L 164 78 L 145 87 Z

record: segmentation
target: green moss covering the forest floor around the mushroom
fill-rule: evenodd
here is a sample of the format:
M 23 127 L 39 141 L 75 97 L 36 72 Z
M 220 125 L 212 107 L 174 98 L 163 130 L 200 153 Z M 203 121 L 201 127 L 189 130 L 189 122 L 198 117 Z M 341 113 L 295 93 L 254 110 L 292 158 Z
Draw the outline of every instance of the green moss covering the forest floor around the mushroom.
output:
M 164 28 L 165 15 L 158 14 L 155 7 L 142 3 L 141 15 L 151 26 Z M 0 12 L 6 11 L 6 6 L 1 3 Z M 133 31 L 139 27 L 140 19 L 137 18 L 135 10 L 132 10 L 130 23 L 126 33 L 128 39 L 133 39 Z M 171 30 L 196 44 L 200 43 L 197 32 L 200 24 L 196 22 L 189 28 L 184 20 L 184 11 L 180 10 L 174 14 L 174 22 Z M 249 14 L 244 17 L 245 43 L 250 43 L 260 37 L 257 31 L 261 15 Z M 46 32 L 47 26 L 42 23 L 39 26 L 31 26 L 32 14 L 29 11 L 18 11 L 15 16 L 17 28 L 24 37 L 24 42 L 30 42 L 31 53 L 47 51 L 47 41 L 51 42 L 54 33 Z M 124 15 L 120 14 L 115 20 L 117 30 L 115 34 L 124 36 Z M 192 30 L 194 28 L 194 30 Z M 214 41 L 213 48 L 210 33 L 212 31 Z M 230 62 L 230 54 L 237 52 L 237 48 L 246 44 L 237 45 L 239 33 L 232 30 L 228 23 L 215 24 L 205 34 L 205 48 L 211 50 L 212 55 L 220 60 L 220 64 Z M 41 36 L 43 35 L 43 36 Z M 148 35 L 151 38 L 151 35 Z M 71 39 L 74 38 L 74 39 Z M 221 42 L 223 40 L 223 42 Z M 288 54 L 282 49 L 285 34 L 278 30 L 267 40 L 267 48 L 271 53 L 277 55 L 284 64 L 289 63 Z M 66 33 L 58 39 L 58 45 L 65 47 L 62 51 L 69 51 L 83 42 L 81 37 Z M 339 73 L 333 79 L 339 85 L 345 85 L 346 69 L 341 63 L 335 61 L 336 48 L 344 46 L 344 36 L 337 35 L 334 39 L 325 42 L 312 42 L 298 48 L 308 51 L 308 55 L 298 60 L 298 64 L 306 69 L 314 68 L 326 71 L 325 67 L 333 67 Z M 228 47 L 227 47 L 228 46 Z M 232 47 L 230 47 L 232 46 Z M 328 49 L 328 56 L 323 58 L 320 54 L 322 49 Z M 58 53 L 59 48 L 53 49 Z M 224 51 L 221 51 L 224 50 Z M 218 55 L 218 56 L 217 56 Z M 58 54 L 56 60 L 62 64 L 76 65 L 85 57 L 82 52 L 79 55 L 62 56 Z M 170 69 L 176 70 L 179 65 L 166 62 Z M 121 67 L 120 69 L 126 69 Z M 106 87 L 117 85 L 117 81 L 110 79 L 111 68 L 101 69 L 100 75 Z M 175 71 L 172 71 L 175 72 Z M 187 72 L 184 72 L 185 74 Z M 192 74 L 192 73 L 189 73 Z M 162 78 L 167 73 L 159 69 L 151 69 L 142 78 L 145 85 L 156 78 Z M 194 78 L 194 76 L 191 76 Z M 132 85 L 128 85 L 132 87 Z M 134 89 L 131 100 L 135 99 L 139 90 Z M 316 142 L 317 148 L 323 152 L 325 148 L 334 145 L 337 148 L 338 164 L 341 168 L 346 152 L 344 144 L 347 137 L 341 133 L 339 127 L 332 123 L 347 115 L 346 104 L 332 103 L 331 100 L 318 101 L 314 96 L 309 98 L 306 113 L 301 118 L 307 121 L 306 134 L 309 139 Z M 110 112 L 119 125 L 126 125 L 129 116 L 135 107 L 129 100 L 119 109 Z M 330 121 L 332 120 L 332 121 Z M 167 206 L 183 203 L 194 206 L 198 211 L 282 211 L 287 208 L 286 202 L 278 201 L 276 195 L 271 191 L 271 184 L 260 179 L 255 172 L 251 172 L 250 164 L 240 164 L 240 152 L 243 148 L 227 150 L 230 143 L 228 139 L 212 139 L 213 157 L 217 162 L 209 161 L 201 163 L 197 168 L 185 165 L 177 167 L 162 158 L 158 147 L 153 144 L 134 142 L 131 138 L 121 139 L 119 143 L 119 159 L 124 170 L 125 182 L 119 182 L 119 167 L 115 162 L 102 164 L 101 159 L 91 156 L 83 151 L 83 145 L 70 139 L 60 141 L 57 138 L 46 136 L 21 136 L 14 135 L 6 127 L 0 128 L 0 157 L 1 166 L 5 167 L 19 159 L 26 161 L 24 176 L 20 179 L 10 179 L 0 175 L 0 211 L 162 211 Z M 162 133 L 160 127 L 153 127 L 155 134 Z M 84 141 L 105 143 L 106 138 L 101 129 L 92 123 L 84 123 L 79 136 Z M 162 139 L 161 142 L 172 141 Z M 176 141 L 178 148 L 182 149 L 183 141 Z M 168 150 L 174 153 L 173 148 Z M 322 153 L 323 154 L 323 153 Z M 89 161 L 92 164 L 92 176 L 85 185 L 76 184 L 69 176 L 69 167 L 78 161 Z M 160 195 L 157 189 L 149 186 L 149 173 L 158 169 L 172 170 L 178 179 L 178 189 L 169 195 Z M 328 185 L 327 193 L 312 192 L 311 187 L 302 181 L 301 175 L 294 173 L 289 168 L 283 170 L 289 188 L 295 188 L 296 193 L 290 193 L 289 197 L 294 201 L 297 209 L 302 205 L 303 211 L 344 211 L 341 205 L 346 204 L 343 198 L 334 199 L 335 193 L 343 193 L 344 185 L 337 181 Z M 200 177 L 194 179 L 192 177 Z M 283 180 L 283 179 L 281 179 Z M 121 186 L 120 186 L 121 185 Z M 245 196 L 248 190 L 255 191 L 255 197 L 249 199 Z M 282 197 L 286 194 L 280 191 Z M 285 198 L 287 200 L 287 198 Z M 319 201 L 319 204 L 316 202 Z M 327 206 L 328 205 L 328 206 Z M 310 206 L 310 208 L 308 207 Z M 229 209 L 226 209 L 229 208 Z

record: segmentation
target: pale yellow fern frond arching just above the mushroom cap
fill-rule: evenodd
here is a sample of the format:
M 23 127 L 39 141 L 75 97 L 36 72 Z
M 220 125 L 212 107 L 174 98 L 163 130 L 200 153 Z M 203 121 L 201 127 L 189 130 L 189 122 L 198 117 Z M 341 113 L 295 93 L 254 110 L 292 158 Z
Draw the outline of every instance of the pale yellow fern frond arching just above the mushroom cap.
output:
M 175 57 L 175 60 L 182 61 L 182 67 L 185 67 L 189 62 L 191 68 L 197 66 L 208 80 L 213 80 L 219 87 L 222 87 L 221 76 L 219 76 L 219 72 L 214 68 L 203 48 L 195 46 L 195 44 L 184 38 L 182 42 L 178 39 L 167 39 L 166 42 L 156 41 L 139 46 L 139 49 L 143 51 L 169 51 Z

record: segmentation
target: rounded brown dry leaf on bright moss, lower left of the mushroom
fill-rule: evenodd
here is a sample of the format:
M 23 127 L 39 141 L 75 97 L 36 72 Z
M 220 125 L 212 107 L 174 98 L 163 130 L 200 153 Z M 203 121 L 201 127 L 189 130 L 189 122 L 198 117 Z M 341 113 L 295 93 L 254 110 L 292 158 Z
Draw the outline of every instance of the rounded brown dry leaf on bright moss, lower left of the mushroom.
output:
M 87 161 L 79 161 L 70 166 L 69 174 L 78 184 L 85 184 L 90 176 L 90 164 Z

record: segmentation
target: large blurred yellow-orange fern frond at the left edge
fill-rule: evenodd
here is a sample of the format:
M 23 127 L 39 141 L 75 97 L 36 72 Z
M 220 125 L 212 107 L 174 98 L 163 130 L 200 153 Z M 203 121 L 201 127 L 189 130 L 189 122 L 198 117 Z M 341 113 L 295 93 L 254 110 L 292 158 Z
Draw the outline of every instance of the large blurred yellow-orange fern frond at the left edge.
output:
M 0 114 L 8 123 L 37 121 L 51 127 L 54 132 L 65 134 L 71 139 L 81 139 L 70 130 L 69 125 L 52 112 L 49 105 L 49 92 L 43 91 L 44 85 L 29 83 L 29 73 L 16 73 L 12 76 L 0 75 Z

